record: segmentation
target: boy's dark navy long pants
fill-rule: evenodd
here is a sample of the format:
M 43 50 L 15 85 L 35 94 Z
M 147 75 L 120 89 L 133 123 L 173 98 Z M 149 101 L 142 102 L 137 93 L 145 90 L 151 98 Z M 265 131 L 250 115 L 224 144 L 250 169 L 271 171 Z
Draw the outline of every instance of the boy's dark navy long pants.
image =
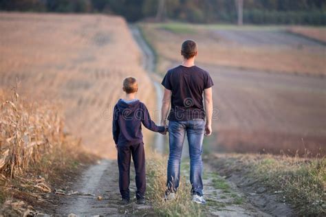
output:
M 144 144 L 133 146 L 118 146 L 119 189 L 122 198 L 129 200 L 130 160 L 133 157 L 135 165 L 136 198 L 144 198 L 146 190 L 145 152 Z

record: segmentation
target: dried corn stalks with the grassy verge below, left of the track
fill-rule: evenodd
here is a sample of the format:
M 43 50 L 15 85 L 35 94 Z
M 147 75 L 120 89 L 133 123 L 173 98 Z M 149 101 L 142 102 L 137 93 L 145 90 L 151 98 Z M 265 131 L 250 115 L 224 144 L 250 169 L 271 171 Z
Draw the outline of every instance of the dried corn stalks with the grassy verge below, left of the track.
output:
M 29 102 L 16 91 L 0 91 L 0 100 L 0 214 L 35 214 L 51 205 L 55 187 L 96 158 L 63 132 L 58 105 Z

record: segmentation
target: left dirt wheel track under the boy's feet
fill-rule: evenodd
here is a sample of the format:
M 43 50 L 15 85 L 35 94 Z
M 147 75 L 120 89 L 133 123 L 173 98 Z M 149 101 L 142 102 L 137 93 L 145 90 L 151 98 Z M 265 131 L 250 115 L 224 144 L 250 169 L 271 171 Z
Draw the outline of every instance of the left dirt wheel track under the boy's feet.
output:
M 131 170 L 131 177 L 134 176 Z M 63 196 L 61 207 L 56 214 L 77 216 L 124 216 L 143 215 L 151 213 L 149 205 L 136 205 L 133 194 L 135 184 L 131 182 L 131 203 L 120 204 L 118 186 L 118 165 L 116 160 L 102 160 L 96 165 L 91 165 L 74 185 L 72 194 Z M 132 178 L 131 178 L 132 180 Z M 98 200 L 98 196 L 102 199 Z

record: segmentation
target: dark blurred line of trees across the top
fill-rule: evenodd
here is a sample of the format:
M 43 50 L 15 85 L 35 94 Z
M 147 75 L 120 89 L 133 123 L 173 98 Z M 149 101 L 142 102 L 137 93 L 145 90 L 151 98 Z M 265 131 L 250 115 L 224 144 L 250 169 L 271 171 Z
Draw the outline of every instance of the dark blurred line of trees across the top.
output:
M 0 0 L 0 10 L 119 14 L 127 21 L 236 23 L 234 0 Z M 325 0 L 243 0 L 243 22 L 326 25 Z

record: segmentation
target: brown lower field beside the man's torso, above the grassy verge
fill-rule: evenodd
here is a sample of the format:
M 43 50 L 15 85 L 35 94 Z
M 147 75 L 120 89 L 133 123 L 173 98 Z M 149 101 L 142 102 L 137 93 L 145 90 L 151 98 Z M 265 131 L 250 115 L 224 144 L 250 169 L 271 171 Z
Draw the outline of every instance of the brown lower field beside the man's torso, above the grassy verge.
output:
M 218 150 L 314 154 L 326 144 L 325 79 L 208 67 Z M 290 150 L 290 151 L 289 151 Z M 325 148 L 323 148 L 325 153 Z

